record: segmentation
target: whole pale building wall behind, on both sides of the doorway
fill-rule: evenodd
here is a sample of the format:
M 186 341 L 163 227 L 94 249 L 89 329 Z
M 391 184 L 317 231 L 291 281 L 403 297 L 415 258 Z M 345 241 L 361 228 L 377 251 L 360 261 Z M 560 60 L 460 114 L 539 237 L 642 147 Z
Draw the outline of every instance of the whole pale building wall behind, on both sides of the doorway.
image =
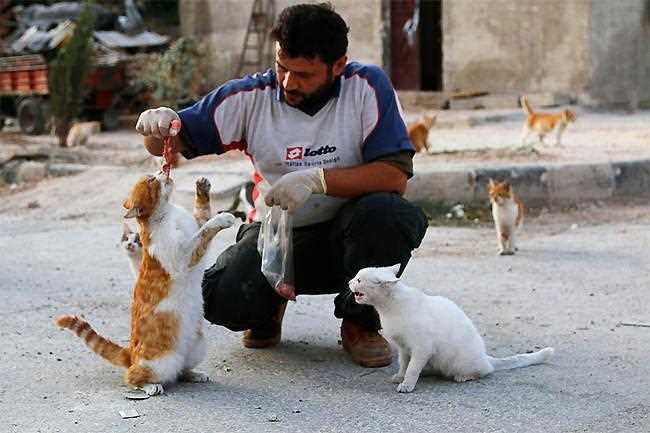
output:
M 277 0 L 277 13 L 304 1 Z M 350 58 L 386 67 L 382 1 L 331 3 L 351 28 Z M 650 0 L 441 1 L 447 91 L 551 92 L 594 107 L 650 100 Z M 235 75 L 252 4 L 181 0 L 182 34 L 208 43 L 215 84 Z

